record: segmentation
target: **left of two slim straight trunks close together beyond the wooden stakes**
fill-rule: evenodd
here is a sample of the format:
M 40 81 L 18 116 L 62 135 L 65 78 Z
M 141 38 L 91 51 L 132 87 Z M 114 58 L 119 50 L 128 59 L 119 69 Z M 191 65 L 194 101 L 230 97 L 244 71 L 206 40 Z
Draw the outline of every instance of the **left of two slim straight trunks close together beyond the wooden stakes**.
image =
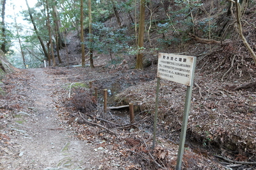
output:
M 85 66 L 85 53 L 84 53 L 84 6 L 83 6 L 83 0 L 80 1 L 80 27 L 81 27 L 81 48 L 82 48 L 82 67 Z

